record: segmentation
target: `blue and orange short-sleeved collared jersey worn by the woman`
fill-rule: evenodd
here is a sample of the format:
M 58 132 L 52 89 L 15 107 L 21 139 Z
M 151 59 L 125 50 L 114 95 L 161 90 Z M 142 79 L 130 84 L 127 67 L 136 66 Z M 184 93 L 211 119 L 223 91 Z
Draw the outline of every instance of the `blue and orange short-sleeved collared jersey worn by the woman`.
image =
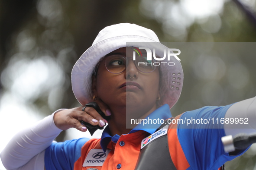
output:
M 203 107 L 176 116 L 168 129 L 169 152 L 178 170 L 217 170 L 225 162 L 240 156 L 224 152 L 221 137 L 225 136 L 220 119 L 231 105 Z M 172 117 L 167 104 L 146 119 Z M 217 123 L 218 120 L 218 123 Z M 179 123 L 175 123 L 179 122 Z M 45 150 L 46 170 L 132 170 L 136 166 L 142 140 L 159 127 L 138 125 L 124 135 L 110 135 L 106 127 L 101 139 L 75 139 L 53 143 Z M 152 153 L 153 154 L 153 153 Z

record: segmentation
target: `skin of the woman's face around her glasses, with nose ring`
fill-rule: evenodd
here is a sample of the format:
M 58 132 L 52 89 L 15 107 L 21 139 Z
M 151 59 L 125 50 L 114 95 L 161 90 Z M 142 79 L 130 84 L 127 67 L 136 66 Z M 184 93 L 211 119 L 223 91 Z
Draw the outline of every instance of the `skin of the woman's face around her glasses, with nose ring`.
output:
M 93 92 L 106 103 L 111 110 L 113 107 L 126 107 L 126 112 L 147 113 L 153 107 L 156 109 L 156 98 L 159 94 L 159 69 L 153 72 L 140 72 L 133 63 L 133 49 L 122 47 L 107 56 L 121 54 L 129 60 L 126 70 L 119 74 L 109 72 L 101 61 L 96 76 Z M 127 64 L 127 63 L 126 63 Z M 128 112 L 130 112 L 128 111 Z

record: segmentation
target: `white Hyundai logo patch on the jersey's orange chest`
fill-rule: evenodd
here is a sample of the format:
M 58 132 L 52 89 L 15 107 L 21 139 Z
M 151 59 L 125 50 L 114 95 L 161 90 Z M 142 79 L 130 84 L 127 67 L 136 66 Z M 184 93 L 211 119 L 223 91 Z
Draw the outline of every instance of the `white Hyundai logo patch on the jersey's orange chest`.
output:
M 104 164 L 104 161 L 106 160 L 109 152 L 110 152 L 109 149 L 107 149 L 107 151 L 105 153 L 102 149 L 92 149 L 87 154 L 87 157 L 84 160 L 83 167 L 102 166 Z

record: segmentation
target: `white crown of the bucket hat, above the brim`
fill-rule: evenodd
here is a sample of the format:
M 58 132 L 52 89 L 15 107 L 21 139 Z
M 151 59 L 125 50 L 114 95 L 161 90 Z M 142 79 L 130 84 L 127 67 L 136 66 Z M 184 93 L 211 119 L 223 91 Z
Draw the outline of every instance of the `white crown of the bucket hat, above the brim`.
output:
M 108 38 L 125 36 L 125 35 L 134 35 L 142 36 L 153 41 L 159 42 L 159 39 L 154 31 L 142 26 L 130 23 L 120 23 L 116 25 L 110 25 L 102 29 L 97 37 L 95 38 L 92 45 L 97 44 L 100 41 L 106 40 Z

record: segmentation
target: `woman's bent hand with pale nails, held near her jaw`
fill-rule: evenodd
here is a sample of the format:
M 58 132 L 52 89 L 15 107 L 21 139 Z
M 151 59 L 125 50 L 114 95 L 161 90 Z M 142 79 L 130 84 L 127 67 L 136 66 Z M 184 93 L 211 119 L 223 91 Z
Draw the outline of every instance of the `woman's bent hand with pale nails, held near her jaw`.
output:
M 100 100 L 97 100 L 96 103 L 106 116 L 110 116 L 111 113 L 106 104 Z M 55 113 L 55 125 L 62 130 L 67 130 L 72 127 L 82 132 L 85 132 L 87 128 L 80 123 L 81 120 L 94 126 L 98 125 L 103 127 L 105 125 L 106 120 L 104 120 L 93 107 L 86 107 L 84 111 L 82 111 L 83 107 L 84 106 L 61 110 Z

